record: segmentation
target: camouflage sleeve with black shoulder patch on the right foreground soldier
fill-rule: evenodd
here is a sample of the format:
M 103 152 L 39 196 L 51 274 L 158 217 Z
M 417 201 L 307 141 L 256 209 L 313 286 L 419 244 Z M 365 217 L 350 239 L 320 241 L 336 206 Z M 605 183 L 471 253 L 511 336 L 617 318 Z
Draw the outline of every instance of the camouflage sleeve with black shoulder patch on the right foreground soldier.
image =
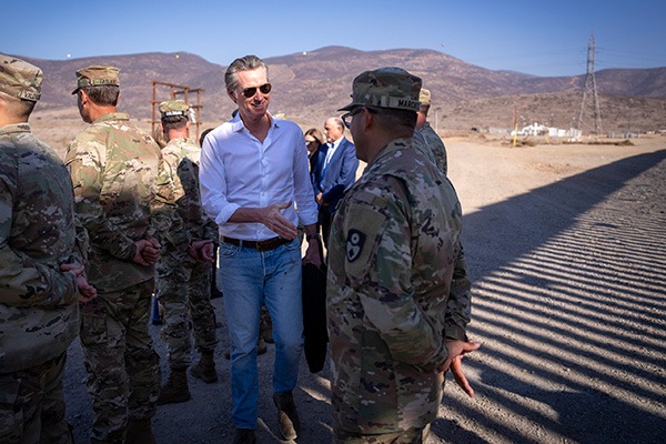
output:
M 414 299 L 411 283 L 411 206 L 404 184 L 383 178 L 355 194 L 345 220 L 349 245 L 361 241 L 345 273 L 367 320 L 379 331 L 394 360 L 432 371 L 446 359 L 442 325 Z

